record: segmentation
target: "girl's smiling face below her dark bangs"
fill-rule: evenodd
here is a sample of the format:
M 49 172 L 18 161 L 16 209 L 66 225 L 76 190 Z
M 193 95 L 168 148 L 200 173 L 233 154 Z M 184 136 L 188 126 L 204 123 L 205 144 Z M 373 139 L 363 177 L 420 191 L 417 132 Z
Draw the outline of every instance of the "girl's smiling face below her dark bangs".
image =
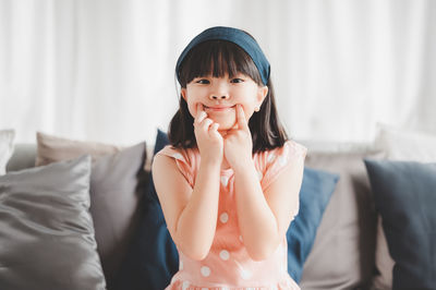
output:
M 245 119 L 249 121 L 255 108 L 261 105 L 268 93 L 267 86 L 258 86 L 250 76 L 238 73 L 232 78 L 199 76 L 181 89 L 190 113 L 195 119 L 197 104 L 214 122 L 219 123 L 218 131 L 232 129 L 237 122 L 237 105 L 242 105 Z

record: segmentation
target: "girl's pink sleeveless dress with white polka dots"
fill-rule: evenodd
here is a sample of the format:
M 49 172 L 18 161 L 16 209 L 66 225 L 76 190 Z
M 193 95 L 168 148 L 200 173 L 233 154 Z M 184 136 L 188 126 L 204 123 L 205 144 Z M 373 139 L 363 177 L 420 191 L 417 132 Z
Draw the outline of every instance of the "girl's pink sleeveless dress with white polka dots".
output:
M 158 154 L 175 159 L 177 166 L 194 188 L 199 167 L 198 149 L 173 149 L 166 146 Z M 300 158 L 306 148 L 288 141 L 280 147 L 255 154 L 253 159 L 261 186 L 265 190 L 280 172 Z M 300 289 L 288 274 L 288 243 L 283 237 L 277 250 L 264 261 L 253 261 L 242 240 L 234 202 L 233 170 L 221 170 L 218 221 L 209 254 L 203 261 L 194 261 L 179 251 L 179 271 L 166 290 L 203 289 Z M 299 212 L 299 196 L 293 198 L 293 216 Z

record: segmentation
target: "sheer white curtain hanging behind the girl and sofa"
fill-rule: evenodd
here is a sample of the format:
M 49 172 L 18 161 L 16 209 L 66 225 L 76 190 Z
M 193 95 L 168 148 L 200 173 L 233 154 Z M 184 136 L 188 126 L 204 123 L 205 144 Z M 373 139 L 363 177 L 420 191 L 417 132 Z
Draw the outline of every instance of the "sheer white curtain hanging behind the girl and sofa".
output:
M 264 48 L 294 138 L 436 133 L 435 0 L 0 0 L 0 129 L 153 143 L 178 107 L 179 53 L 215 25 Z

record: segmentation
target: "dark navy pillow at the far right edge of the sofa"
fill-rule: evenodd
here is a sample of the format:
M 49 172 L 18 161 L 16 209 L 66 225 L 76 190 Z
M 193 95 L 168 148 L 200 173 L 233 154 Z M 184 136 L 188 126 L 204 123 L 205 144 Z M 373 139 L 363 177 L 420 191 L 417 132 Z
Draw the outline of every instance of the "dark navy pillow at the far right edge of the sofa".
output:
M 436 289 L 436 164 L 365 159 L 393 289 Z

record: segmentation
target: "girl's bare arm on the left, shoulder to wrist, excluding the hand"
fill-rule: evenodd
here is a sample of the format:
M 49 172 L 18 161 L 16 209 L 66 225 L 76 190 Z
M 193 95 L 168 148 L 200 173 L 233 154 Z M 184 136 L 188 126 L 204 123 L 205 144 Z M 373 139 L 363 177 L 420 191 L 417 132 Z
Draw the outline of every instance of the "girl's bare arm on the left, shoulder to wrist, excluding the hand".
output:
M 187 257 L 205 258 L 217 225 L 220 164 L 202 158 L 194 189 L 168 156 L 157 155 L 152 172 L 172 240 Z

